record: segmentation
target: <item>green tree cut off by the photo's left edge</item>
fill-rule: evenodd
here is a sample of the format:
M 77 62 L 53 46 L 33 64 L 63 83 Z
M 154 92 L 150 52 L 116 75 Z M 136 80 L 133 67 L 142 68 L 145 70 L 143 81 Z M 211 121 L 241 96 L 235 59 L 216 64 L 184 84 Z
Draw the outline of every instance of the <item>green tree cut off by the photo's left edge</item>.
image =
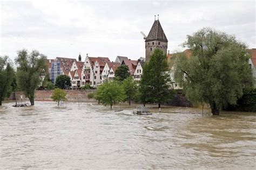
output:
M 11 89 L 11 82 L 13 78 L 14 69 L 12 69 L 8 57 L 0 57 L 0 106 L 2 106 L 2 101 Z

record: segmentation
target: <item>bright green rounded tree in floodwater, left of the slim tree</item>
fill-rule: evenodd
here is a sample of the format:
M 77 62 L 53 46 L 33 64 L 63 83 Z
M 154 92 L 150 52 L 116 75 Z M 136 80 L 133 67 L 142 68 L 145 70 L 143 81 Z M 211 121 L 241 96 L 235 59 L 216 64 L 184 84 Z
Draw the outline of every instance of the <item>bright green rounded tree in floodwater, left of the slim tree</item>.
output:
M 126 96 L 123 86 L 118 81 L 106 81 L 97 87 L 94 97 L 99 103 L 110 105 L 112 108 L 112 105 L 124 101 Z

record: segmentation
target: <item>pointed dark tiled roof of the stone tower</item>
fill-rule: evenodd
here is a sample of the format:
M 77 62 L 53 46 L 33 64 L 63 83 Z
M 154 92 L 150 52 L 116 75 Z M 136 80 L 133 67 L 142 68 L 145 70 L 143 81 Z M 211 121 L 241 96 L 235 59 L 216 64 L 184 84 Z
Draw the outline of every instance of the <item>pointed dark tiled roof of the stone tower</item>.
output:
M 168 42 L 164 30 L 161 27 L 161 24 L 159 22 L 159 19 L 154 21 L 152 28 L 149 32 L 149 35 L 147 36 L 145 42 L 150 42 L 152 40 L 161 40 L 163 42 Z

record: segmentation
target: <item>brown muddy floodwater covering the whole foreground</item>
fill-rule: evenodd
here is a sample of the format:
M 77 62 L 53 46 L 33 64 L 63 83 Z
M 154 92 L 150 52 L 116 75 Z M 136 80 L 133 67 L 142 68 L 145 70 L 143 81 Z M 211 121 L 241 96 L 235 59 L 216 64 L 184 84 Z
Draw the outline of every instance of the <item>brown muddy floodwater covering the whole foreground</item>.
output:
M 194 108 L 133 115 L 90 103 L 0 107 L 0 168 L 129 169 L 256 166 L 256 113 L 202 117 Z

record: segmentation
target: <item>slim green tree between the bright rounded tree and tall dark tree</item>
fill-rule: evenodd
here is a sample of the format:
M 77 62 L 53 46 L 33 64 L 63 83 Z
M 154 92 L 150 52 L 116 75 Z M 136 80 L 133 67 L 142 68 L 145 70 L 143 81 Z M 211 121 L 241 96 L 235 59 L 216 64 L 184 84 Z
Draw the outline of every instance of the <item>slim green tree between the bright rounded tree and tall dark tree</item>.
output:
M 129 105 L 131 105 L 131 100 L 133 100 L 137 92 L 137 84 L 133 81 L 132 77 L 128 77 L 123 81 L 123 87 L 126 95 L 126 101 L 129 101 Z

